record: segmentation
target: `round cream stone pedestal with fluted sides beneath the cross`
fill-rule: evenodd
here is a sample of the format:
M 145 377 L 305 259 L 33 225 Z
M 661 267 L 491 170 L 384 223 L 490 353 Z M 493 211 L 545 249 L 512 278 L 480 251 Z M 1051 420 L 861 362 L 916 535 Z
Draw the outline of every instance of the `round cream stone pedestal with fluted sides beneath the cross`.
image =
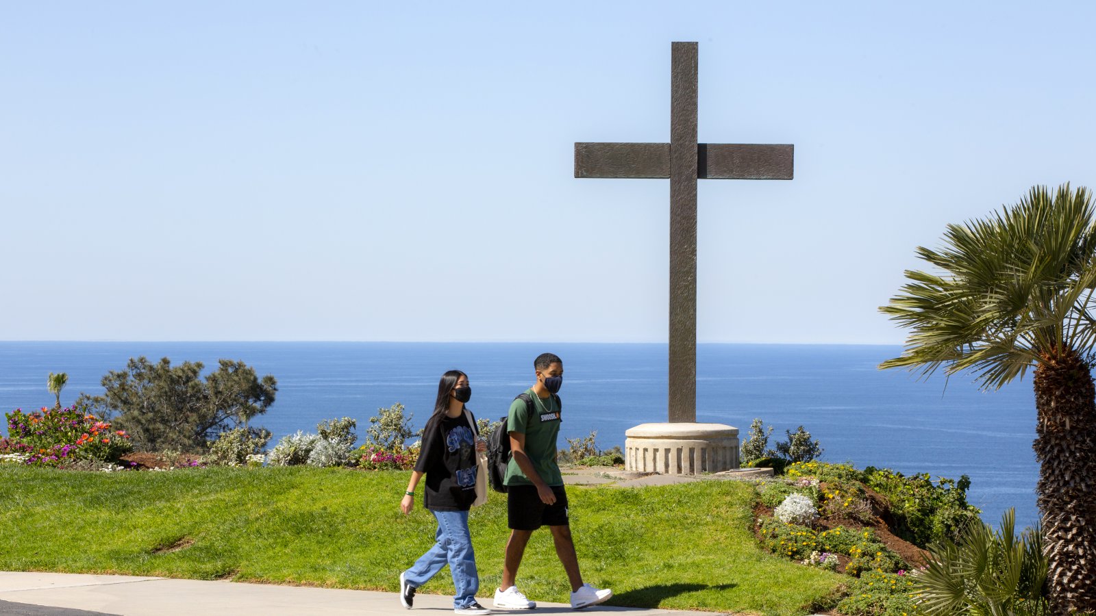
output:
M 739 429 L 722 423 L 643 423 L 625 436 L 626 470 L 700 475 L 739 468 Z

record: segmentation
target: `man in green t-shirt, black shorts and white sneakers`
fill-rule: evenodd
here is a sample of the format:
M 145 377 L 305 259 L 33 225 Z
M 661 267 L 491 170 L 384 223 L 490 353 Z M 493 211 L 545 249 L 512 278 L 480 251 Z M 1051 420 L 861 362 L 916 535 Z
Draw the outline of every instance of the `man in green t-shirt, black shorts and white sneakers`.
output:
M 571 608 L 582 609 L 605 602 L 613 596 L 613 591 L 598 590 L 582 582 L 579 559 L 571 540 L 567 492 L 556 464 L 561 408 L 556 392 L 563 384 L 563 362 L 551 353 L 545 353 L 533 362 L 533 368 L 537 381 L 525 390 L 533 402 L 533 412 L 518 398 L 510 406 L 506 422 L 513 452 L 505 478 L 511 533 L 502 566 L 502 588 L 494 593 L 494 606 L 500 609 L 533 609 L 537 606 L 517 590 L 515 580 L 529 536 L 547 525 L 556 544 L 556 555 L 571 582 Z

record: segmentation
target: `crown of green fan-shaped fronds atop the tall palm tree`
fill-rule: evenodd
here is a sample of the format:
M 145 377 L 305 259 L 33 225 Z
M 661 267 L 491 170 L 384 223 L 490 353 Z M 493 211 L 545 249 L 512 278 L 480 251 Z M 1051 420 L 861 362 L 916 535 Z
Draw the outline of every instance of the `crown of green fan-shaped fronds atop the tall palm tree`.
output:
M 1048 354 L 1096 344 L 1096 215 L 1092 193 L 1032 187 L 983 219 L 948 225 L 941 247 L 918 247 L 934 272 L 907 283 L 880 311 L 910 333 L 880 368 L 929 376 L 969 372 L 983 388 L 1023 377 Z

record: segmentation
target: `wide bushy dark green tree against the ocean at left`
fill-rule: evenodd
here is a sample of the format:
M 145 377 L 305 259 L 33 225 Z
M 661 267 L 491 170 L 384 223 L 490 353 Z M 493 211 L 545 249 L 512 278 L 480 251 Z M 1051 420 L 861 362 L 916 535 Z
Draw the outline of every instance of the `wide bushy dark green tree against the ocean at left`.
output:
M 167 357 L 152 364 L 130 358 L 124 370 L 103 377 L 103 396 L 82 393 L 83 402 L 112 418 L 115 427 L 127 431 L 136 446 L 146 450 L 198 452 L 221 432 L 232 430 L 274 403 L 277 381 L 260 379 L 243 362 L 220 360 L 205 381 L 201 362 L 172 366 Z M 255 437 L 261 429 L 248 427 Z

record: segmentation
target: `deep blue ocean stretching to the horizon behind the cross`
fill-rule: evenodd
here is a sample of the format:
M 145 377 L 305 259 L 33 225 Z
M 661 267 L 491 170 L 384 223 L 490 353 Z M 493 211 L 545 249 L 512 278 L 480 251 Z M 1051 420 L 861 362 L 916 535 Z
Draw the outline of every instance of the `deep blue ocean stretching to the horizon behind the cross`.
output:
M 50 372 L 69 375 L 61 402 L 98 395 L 107 370 L 129 357 L 203 362 L 240 360 L 278 392 L 252 420 L 273 432 L 271 445 L 323 419 L 351 417 L 365 433 L 378 408 L 402 402 L 421 426 L 442 373 L 468 374 L 477 417 L 498 419 L 533 383 L 533 358 L 563 360 L 563 437 L 597 431 L 602 448 L 624 445 L 632 425 L 665 421 L 665 344 L 317 343 L 317 342 L 0 342 L 0 410 L 53 402 Z M 899 346 L 700 344 L 697 421 L 727 423 L 745 436 L 753 418 L 776 431 L 800 424 L 821 441 L 825 461 L 890 467 L 958 479 L 969 475 L 972 504 L 996 524 L 1009 506 L 1019 525 L 1038 522 L 1035 397 L 1030 374 L 1001 391 L 981 392 L 969 378 L 927 381 L 878 364 Z M 7 429 L 7 424 L 0 426 Z

